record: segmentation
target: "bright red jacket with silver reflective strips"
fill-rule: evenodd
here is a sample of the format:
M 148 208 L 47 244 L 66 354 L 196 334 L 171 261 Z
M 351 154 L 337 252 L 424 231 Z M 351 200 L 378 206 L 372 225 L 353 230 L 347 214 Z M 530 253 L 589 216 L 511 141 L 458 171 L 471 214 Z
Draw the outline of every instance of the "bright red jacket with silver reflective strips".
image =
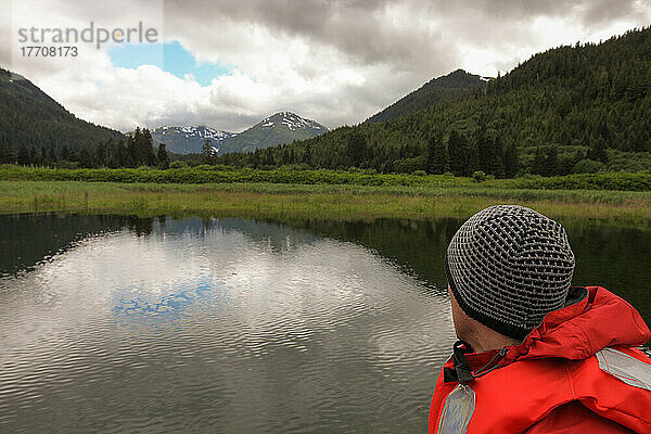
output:
M 451 432 L 651 433 L 651 359 L 634 348 L 651 339 L 649 328 L 633 306 L 608 290 L 587 291 L 580 302 L 547 315 L 521 345 L 501 354 L 465 355 L 474 374 L 497 365 L 467 382 L 472 391 L 452 395 L 474 393 L 474 411 L 459 410 L 467 407 L 448 399 L 461 387 L 449 374 L 461 369 L 448 370 L 448 382 L 442 371 L 429 432 L 439 432 L 447 399 L 452 410 L 445 410 L 442 426 L 456 420 Z M 448 360 L 444 370 L 452 366 Z M 464 423 L 467 431 L 459 431 Z

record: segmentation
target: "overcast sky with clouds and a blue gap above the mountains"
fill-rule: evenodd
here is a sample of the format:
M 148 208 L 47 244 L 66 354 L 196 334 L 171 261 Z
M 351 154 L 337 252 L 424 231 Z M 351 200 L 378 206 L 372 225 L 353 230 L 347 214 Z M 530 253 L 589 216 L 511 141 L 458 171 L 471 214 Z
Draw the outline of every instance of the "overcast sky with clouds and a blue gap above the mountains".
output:
M 10 2 L 0 65 L 78 117 L 123 131 L 241 131 L 279 111 L 329 128 L 358 124 L 457 68 L 496 76 L 548 48 L 651 24 L 651 0 Z M 110 30 L 142 22 L 157 40 L 79 42 L 67 59 L 22 56 L 35 43 L 20 41 L 21 28 L 82 30 L 90 22 Z

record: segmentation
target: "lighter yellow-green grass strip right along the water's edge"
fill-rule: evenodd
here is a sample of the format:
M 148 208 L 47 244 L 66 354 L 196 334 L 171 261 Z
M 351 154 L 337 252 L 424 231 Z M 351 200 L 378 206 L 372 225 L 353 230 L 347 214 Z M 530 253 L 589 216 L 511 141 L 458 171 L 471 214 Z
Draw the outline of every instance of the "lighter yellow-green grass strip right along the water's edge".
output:
M 66 212 L 322 218 L 465 218 L 495 204 L 521 204 L 561 221 L 651 229 L 651 192 L 527 190 L 459 186 L 116 183 L 0 181 L 0 214 Z

